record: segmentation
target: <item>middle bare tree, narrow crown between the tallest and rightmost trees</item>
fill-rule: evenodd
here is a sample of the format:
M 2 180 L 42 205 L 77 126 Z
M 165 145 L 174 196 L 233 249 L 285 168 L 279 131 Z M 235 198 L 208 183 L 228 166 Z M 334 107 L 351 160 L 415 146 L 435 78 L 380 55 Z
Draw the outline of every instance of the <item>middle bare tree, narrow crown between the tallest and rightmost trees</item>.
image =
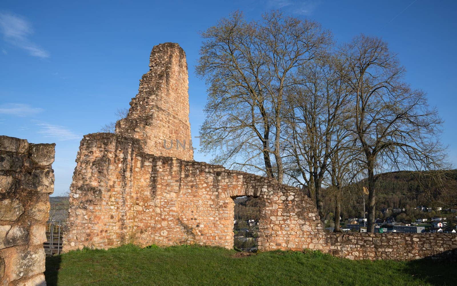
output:
M 320 190 L 327 165 L 350 133 L 344 127 L 353 114 L 351 94 L 337 73 L 339 65 L 339 60 L 330 56 L 303 67 L 298 73 L 303 82 L 293 86 L 287 97 L 284 135 L 292 144 L 285 152 L 285 172 L 296 182 L 303 182 L 321 216 Z M 340 132 L 339 137 L 335 137 L 336 132 Z

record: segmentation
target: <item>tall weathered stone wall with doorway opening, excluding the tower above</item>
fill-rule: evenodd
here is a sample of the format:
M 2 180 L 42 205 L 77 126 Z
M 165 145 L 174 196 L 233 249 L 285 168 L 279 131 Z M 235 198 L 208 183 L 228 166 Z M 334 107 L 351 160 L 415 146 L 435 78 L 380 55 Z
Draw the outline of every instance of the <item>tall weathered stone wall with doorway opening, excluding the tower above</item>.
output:
M 319 216 L 298 189 L 141 148 L 113 134 L 81 141 L 64 251 L 125 243 L 233 248 L 233 199 L 245 195 L 260 200 L 260 250 L 324 249 Z

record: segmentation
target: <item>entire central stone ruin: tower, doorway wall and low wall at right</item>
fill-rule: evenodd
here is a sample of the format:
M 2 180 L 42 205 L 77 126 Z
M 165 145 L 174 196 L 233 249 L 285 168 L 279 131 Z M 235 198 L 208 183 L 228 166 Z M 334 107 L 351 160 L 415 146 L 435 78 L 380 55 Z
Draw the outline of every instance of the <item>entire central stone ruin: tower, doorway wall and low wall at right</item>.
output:
M 399 260 L 455 254 L 451 237 L 325 233 L 316 208 L 299 189 L 191 161 L 184 51 L 175 43 L 160 44 L 150 59 L 150 71 L 116 133 L 81 140 L 64 251 L 126 243 L 232 248 L 233 199 L 247 195 L 260 201 L 261 251 L 310 248 L 350 259 Z M 186 140 L 186 147 L 175 140 Z

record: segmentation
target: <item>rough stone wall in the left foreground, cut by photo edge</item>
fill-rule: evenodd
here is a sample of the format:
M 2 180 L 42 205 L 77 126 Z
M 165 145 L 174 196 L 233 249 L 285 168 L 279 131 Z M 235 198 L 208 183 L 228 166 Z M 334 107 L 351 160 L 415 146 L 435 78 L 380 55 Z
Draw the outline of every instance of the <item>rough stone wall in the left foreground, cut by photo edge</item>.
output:
M 0 285 L 46 285 L 46 221 L 55 144 L 0 136 Z

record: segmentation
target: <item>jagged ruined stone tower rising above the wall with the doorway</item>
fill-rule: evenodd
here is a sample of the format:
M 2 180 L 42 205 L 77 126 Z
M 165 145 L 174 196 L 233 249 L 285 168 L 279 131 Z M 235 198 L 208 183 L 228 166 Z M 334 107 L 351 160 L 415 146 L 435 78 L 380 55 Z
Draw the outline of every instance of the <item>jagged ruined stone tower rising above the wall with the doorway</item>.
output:
M 186 54 L 177 43 L 156 45 L 149 68 L 116 134 L 139 139 L 146 153 L 193 160 Z

